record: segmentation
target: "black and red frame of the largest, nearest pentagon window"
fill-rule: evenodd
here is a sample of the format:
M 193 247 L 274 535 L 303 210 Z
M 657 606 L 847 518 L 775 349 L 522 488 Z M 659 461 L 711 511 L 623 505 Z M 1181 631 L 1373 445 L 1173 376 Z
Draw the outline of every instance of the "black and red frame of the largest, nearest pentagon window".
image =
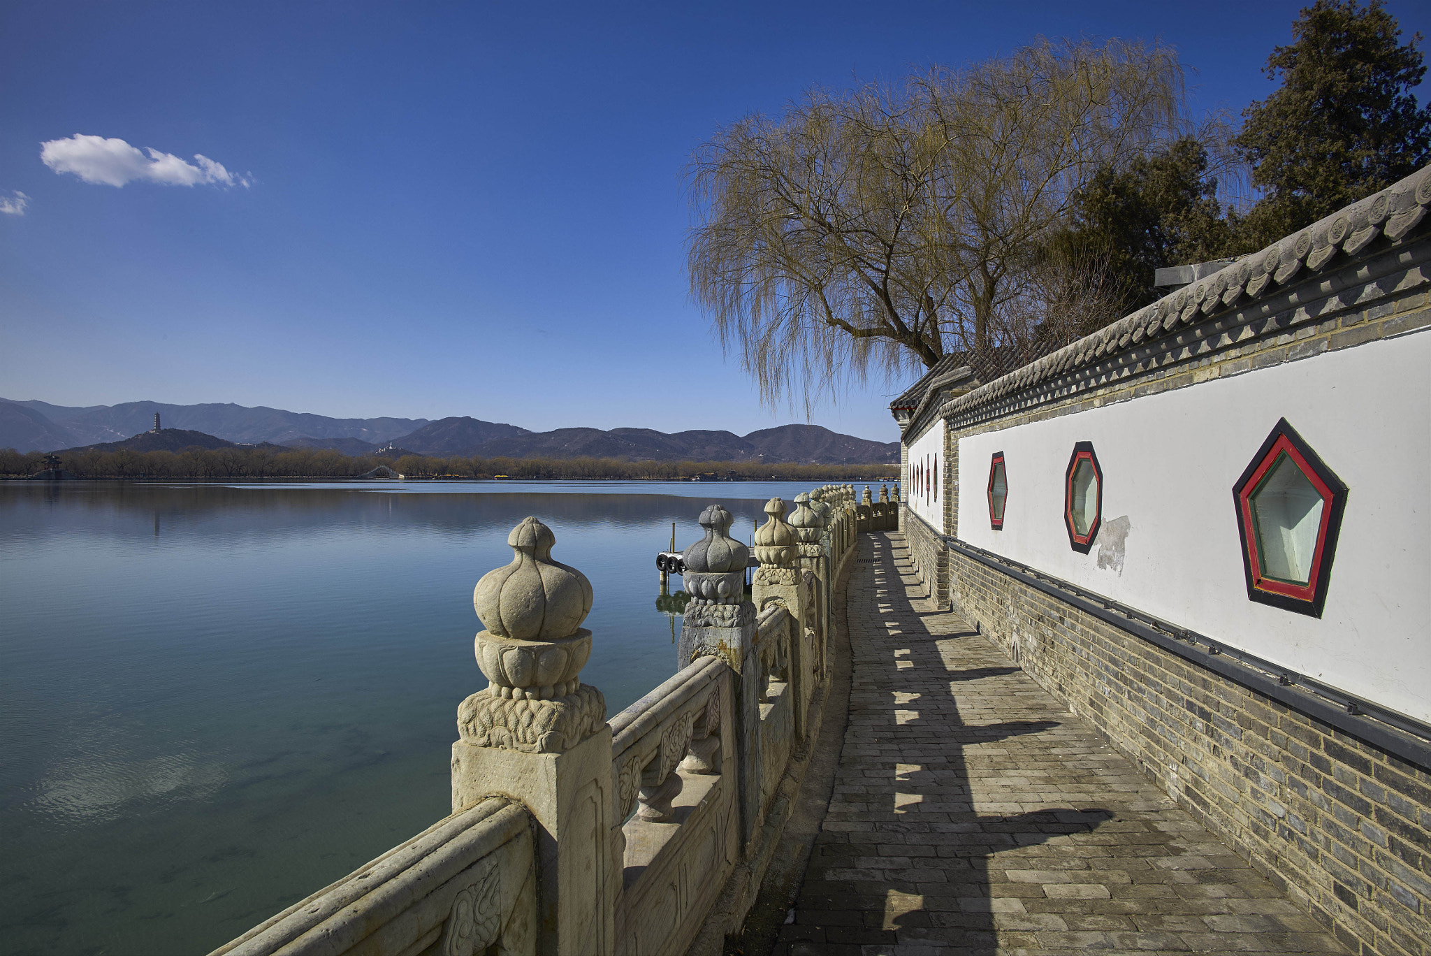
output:
M 1312 551 L 1312 565 L 1307 584 L 1295 584 L 1262 574 L 1262 555 L 1258 552 L 1256 521 L 1252 517 L 1252 495 L 1272 467 L 1286 457 L 1322 497 L 1322 518 L 1317 527 L 1317 547 Z M 1254 455 L 1252 462 L 1232 485 L 1232 499 L 1238 511 L 1238 537 L 1242 548 L 1242 571 L 1246 578 L 1248 600 L 1258 604 L 1321 617 L 1327 604 L 1327 588 L 1331 582 L 1332 558 L 1337 554 L 1337 538 L 1341 535 L 1342 514 L 1347 508 L 1347 485 L 1312 451 L 1296 429 L 1279 419 L 1272 432 Z

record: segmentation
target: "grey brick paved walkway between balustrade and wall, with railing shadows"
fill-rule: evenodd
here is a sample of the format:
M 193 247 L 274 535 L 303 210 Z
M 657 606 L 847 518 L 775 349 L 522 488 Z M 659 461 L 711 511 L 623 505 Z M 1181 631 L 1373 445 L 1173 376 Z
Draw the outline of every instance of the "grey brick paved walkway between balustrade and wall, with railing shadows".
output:
M 1345 952 L 952 613 L 850 575 L 850 723 L 778 956 Z

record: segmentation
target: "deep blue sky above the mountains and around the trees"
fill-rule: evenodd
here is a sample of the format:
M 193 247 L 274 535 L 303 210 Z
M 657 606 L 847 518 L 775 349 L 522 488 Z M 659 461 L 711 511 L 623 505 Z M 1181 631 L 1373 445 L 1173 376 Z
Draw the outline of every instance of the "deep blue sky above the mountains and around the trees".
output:
M 1301 6 L 0 0 L 0 209 L 24 195 L 0 215 L 0 395 L 804 421 L 761 408 L 687 295 L 683 167 L 718 126 L 1039 34 L 1162 39 L 1193 109 L 1235 116 Z M 97 140 L 41 160 L 73 136 L 156 150 L 109 170 L 162 163 L 86 182 Z M 894 441 L 906 384 L 811 421 Z

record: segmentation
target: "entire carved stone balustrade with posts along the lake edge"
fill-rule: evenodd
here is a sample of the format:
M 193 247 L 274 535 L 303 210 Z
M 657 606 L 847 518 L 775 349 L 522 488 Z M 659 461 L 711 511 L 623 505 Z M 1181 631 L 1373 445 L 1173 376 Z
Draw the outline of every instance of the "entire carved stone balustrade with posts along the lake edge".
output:
M 212 956 L 717 953 L 780 843 L 829 680 L 851 485 L 773 498 L 748 550 L 701 512 L 680 670 L 605 720 L 581 683 L 591 584 L 527 518 L 477 584 L 488 686 L 458 707 L 452 814 Z M 788 521 L 786 515 L 790 515 Z M 867 522 L 871 518 L 864 518 Z

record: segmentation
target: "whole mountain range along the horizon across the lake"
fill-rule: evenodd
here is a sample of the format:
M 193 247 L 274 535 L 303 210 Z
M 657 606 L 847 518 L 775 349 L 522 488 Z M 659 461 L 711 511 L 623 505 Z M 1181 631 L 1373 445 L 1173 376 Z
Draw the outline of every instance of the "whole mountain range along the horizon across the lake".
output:
M 781 425 L 748 435 L 728 431 L 558 428 L 532 432 L 469 416 L 328 418 L 232 404 L 126 402 L 86 408 L 0 398 L 0 448 L 57 451 L 106 445 L 153 428 L 203 432 L 233 444 L 333 448 L 346 455 L 398 447 L 422 455 L 481 458 L 618 458 L 624 461 L 764 461 L 823 465 L 897 462 L 899 442 L 840 435 L 819 425 Z M 202 442 L 193 442 L 202 444 Z

